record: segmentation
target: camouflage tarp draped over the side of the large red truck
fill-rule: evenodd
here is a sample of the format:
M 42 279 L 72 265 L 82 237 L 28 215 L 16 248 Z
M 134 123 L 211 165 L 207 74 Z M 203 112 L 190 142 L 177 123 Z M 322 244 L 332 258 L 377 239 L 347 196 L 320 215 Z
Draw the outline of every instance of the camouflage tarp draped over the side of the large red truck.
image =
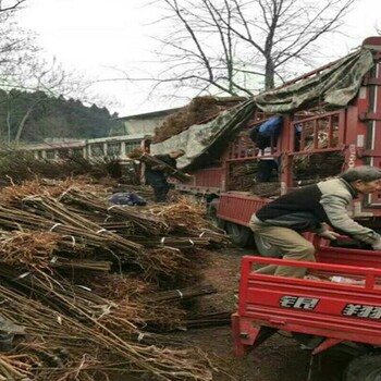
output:
M 332 108 L 345 107 L 357 95 L 364 75 L 373 65 L 371 51 L 361 48 L 311 77 L 258 95 L 209 123 L 193 125 L 179 135 L 151 145 L 151 153 L 182 148 L 186 155 L 177 161 L 180 169 L 208 167 L 256 108 L 269 113 L 287 113 L 321 103 Z

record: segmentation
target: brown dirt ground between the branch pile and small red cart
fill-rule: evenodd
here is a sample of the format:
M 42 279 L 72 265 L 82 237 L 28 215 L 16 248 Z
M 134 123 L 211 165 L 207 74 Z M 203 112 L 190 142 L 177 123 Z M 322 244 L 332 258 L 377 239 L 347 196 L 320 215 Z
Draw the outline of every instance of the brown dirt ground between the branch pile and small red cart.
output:
M 205 305 L 209 308 L 212 306 L 214 311 L 235 310 L 234 291 L 238 285 L 241 257 L 249 254 L 253 251 L 239 248 L 210 254 L 211 263 L 205 267 L 205 276 L 219 292 L 202 297 L 198 309 L 202 310 Z M 315 358 L 310 367 L 309 352 L 302 349 L 287 333 L 273 335 L 243 359 L 234 355 L 229 325 L 194 329 L 179 335 L 189 341 L 192 346 L 205 351 L 220 369 L 214 372 L 213 381 L 341 381 L 342 371 L 348 361 L 342 354 L 331 351 Z M 143 379 L 122 376 L 113 381 Z

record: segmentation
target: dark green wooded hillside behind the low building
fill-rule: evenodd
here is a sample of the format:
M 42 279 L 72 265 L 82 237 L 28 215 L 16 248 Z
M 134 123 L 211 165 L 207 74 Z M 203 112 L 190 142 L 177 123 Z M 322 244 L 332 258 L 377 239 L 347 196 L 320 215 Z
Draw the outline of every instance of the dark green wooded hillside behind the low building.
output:
M 49 137 L 108 136 L 120 124 L 118 114 L 79 100 L 50 97 L 42 91 L 0 90 L 0 142 L 41 142 Z

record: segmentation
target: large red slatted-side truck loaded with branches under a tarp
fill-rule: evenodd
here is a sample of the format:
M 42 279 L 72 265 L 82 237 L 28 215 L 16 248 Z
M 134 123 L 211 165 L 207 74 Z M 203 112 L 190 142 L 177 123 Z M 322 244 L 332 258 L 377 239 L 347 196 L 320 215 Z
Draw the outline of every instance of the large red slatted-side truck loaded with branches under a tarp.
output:
M 206 198 L 209 214 L 228 231 L 233 243 L 239 246 L 253 243 L 247 228 L 249 219 L 269 202 L 269 196 L 333 176 L 351 167 L 381 167 L 381 37 L 367 38 L 362 47 L 371 52 L 374 64 L 361 76 L 359 90 L 348 105 L 329 108 L 322 101 L 283 113 L 284 124 L 270 155 L 279 163 L 279 174 L 271 182 L 254 182 L 261 157 L 248 132 L 271 116 L 257 108 L 234 139 L 226 142 L 226 149 L 219 158 L 190 172 L 194 176 L 190 183 L 176 185 L 180 190 Z M 323 77 L 339 61 L 275 90 Z M 381 229 L 381 194 L 355 201 L 353 216 L 364 225 Z M 256 244 L 259 253 L 267 253 L 261 242 Z

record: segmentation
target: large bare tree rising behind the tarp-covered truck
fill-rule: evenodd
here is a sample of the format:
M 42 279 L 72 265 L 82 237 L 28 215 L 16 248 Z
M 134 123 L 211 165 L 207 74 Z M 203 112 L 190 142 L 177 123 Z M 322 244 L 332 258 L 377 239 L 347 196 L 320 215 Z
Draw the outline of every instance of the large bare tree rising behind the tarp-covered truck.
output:
M 156 87 L 170 83 L 214 94 L 272 88 L 340 28 L 354 1 L 156 0 L 171 32 L 156 37 L 167 66 L 151 79 Z

